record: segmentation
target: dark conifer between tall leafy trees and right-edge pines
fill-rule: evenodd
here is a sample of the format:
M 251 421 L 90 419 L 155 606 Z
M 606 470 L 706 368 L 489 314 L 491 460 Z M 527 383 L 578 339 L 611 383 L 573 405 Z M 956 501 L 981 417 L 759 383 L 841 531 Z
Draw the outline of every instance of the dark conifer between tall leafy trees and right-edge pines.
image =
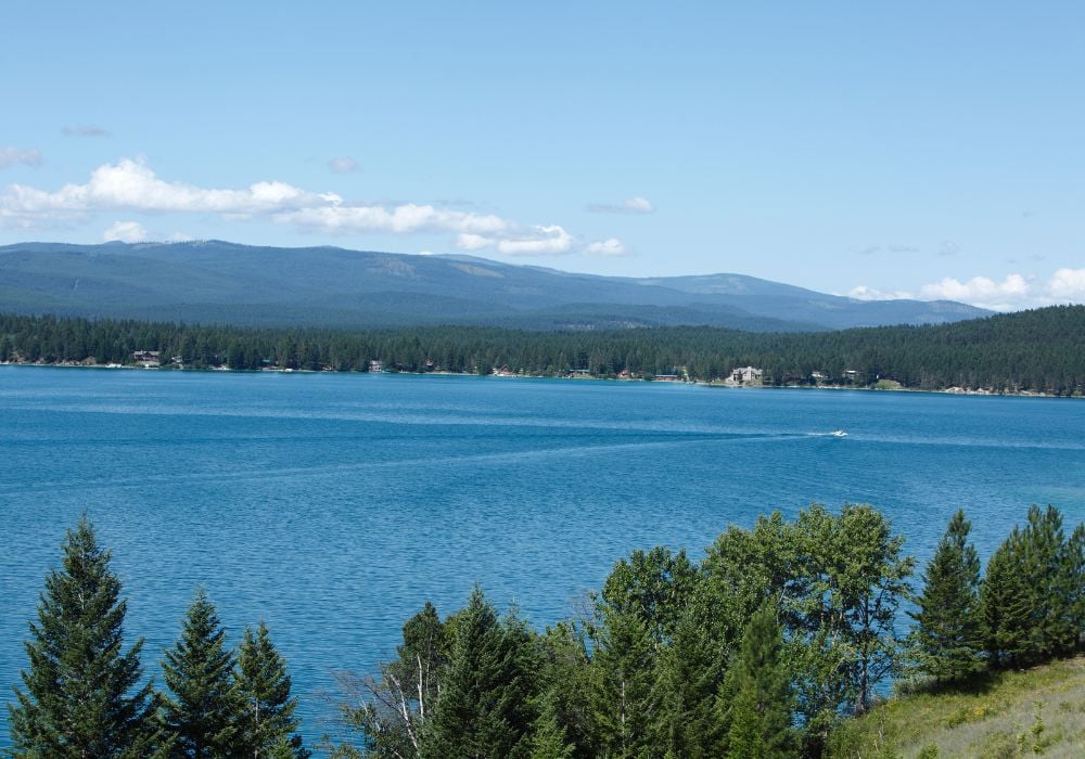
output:
M 983 666 L 980 556 L 968 542 L 971 524 L 958 511 L 923 574 L 908 640 L 915 667 L 936 680 L 957 680 Z

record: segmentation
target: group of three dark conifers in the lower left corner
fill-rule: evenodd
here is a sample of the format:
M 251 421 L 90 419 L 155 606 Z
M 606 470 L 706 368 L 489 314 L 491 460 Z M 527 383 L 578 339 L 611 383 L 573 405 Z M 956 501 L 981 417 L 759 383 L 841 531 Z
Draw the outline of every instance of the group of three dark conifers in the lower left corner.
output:
M 261 621 L 237 649 L 203 589 L 162 659 L 166 691 L 142 682 L 143 639 L 124 651 L 127 602 L 85 518 L 46 578 L 26 641 L 28 666 L 9 704 L 12 757 L 311 756 L 297 733 L 286 662 Z

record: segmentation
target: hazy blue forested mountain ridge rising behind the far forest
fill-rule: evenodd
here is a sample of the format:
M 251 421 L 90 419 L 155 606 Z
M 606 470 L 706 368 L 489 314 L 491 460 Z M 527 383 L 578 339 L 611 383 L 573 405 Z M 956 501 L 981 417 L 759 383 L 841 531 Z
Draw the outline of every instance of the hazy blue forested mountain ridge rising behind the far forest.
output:
M 0 311 L 250 326 L 693 324 L 755 332 L 991 313 L 948 300 L 856 300 L 742 274 L 600 276 L 462 255 L 221 241 L 2 246 Z

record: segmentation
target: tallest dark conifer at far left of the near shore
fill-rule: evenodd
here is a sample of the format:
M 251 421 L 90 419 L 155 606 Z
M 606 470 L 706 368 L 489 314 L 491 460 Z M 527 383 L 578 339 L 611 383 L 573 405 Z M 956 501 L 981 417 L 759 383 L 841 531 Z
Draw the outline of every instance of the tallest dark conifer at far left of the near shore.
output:
M 157 699 L 142 676 L 140 639 L 124 645 L 127 602 L 84 516 L 62 545 L 62 568 L 46 578 L 26 642 L 24 690 L 9 705 L 14 757 L 144 757 L 158 743 Z

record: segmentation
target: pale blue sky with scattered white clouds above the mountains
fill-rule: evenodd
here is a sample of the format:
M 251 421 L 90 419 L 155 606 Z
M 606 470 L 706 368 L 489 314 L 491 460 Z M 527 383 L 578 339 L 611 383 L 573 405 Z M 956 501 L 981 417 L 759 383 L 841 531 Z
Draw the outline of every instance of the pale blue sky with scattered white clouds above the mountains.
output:
M 1085 303 L 1085 3 L 0 8 L 0 244 Z

